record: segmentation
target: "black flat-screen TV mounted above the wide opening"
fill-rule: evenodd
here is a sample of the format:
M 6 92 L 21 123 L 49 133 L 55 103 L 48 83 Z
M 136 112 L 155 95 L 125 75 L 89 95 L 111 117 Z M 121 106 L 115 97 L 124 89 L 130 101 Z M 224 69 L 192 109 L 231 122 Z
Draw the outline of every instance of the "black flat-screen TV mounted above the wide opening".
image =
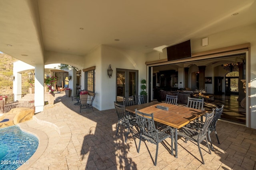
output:
M 190 40 L 166 48 L 168 61 L 191 57 Z

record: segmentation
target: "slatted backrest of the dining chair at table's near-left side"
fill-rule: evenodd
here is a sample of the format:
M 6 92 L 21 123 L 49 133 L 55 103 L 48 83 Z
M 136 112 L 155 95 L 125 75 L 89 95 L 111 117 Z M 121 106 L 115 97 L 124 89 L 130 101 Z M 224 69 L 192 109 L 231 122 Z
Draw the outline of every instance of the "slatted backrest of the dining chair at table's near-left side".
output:
M 146 136 L 147 140 L 149 141 L 157 141 L 158 133 L 154 123 L 154 114 L 142 113 L 135 109 L 135 115 L 137 123 L 140 127 L 140 133 L 142 133 L 144 137 Z

